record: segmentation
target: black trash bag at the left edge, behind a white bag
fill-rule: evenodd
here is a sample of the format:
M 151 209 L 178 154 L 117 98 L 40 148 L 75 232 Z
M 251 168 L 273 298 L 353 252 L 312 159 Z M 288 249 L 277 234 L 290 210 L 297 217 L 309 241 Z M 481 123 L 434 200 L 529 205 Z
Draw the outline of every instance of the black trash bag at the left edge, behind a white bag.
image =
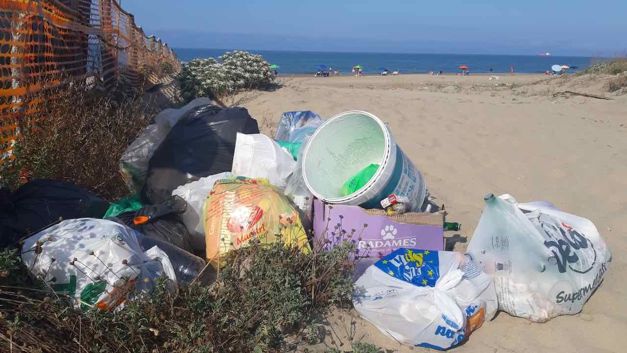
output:
M 73 183 L 33 180 L 14 192 L 0 190 L 0 247 L 41 231 L 59 218 L 101 218 L 109 203 Z

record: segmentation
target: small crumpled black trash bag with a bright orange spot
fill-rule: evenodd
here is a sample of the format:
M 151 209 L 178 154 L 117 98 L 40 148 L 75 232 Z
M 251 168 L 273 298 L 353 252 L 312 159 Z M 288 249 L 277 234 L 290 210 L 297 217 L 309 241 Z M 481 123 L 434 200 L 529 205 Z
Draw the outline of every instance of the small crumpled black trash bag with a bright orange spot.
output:
M 187 202 L 174 195 L 157 205 L 147 205 L 137 211 L 117 215 L 125 225 L 152 239 L 176 245 L 190 253 L 193 251 L 189 232 L 179 215 L 185 212 Z M 112 217 L 110 220 L 113 220 Z

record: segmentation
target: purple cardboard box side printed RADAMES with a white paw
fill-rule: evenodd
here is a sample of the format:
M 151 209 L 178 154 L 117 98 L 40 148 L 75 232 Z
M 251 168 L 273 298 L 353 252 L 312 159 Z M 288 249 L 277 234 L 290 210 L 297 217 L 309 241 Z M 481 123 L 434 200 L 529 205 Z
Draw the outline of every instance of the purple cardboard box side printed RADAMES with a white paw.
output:
M 385 256 L 399 247 L 444 250 L 442 224 L 415 225 L 368 214 L 359 206 L 330 205 L 314 200 L 314 244 L 322 249 L 350 241 L 359 256 Z

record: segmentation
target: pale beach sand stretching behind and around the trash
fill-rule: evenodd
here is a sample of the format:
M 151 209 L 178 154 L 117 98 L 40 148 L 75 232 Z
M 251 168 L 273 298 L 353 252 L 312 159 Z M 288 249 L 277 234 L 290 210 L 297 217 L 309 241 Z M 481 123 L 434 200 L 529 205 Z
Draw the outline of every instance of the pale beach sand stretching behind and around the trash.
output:
M 521 202 L 551 200 L 594 222 L 613 253 L 603 285 L 581 313 L 548 323 L 499 313 L 455 352 L 624 352 L 627 348 L 627 95 L 604 92 L 607 77 L 545 75 L 398 75 L 283 77 L 273 92 L 239 95 L 263 132 L 272 134 L 283 111 L 312 110 L 328 118 L 359 109 L 389 122 L 396 141 L 423 171 L 445 204 L 447 219 L 463 224 L 464 251 L 486 193 Z M 553 97 L 574 90 L 614 100 Z M 349 339 L 390 352 L 428 352 L 381 334 L 354 311 L 322 320 L 327 335 L 308 347 L 349 350 Z M 305 347 L 300 347 L 300 350 Z

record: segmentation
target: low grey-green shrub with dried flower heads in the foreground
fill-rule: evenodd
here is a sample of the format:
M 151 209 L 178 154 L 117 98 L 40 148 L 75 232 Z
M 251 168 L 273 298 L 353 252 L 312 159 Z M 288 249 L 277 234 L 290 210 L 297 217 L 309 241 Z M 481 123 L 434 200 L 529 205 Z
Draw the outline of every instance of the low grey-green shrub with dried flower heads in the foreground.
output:
M 251 244 L 211 286 L 171 292 L 166 280 L 121 310 L 80 312 L 29 280 L 0 251 L 0 350 L 20 352 L 276 352 L 331 305 L 352 305 L 354 244 L 310 251 Z M 19 267 L 19 268 L 18 268 Z M 10 271 L 10 272 L 9 272 Z M 25 280 L 26 279 L 26 280 Z M 33 282 L 33 285 L 28 283 Z

